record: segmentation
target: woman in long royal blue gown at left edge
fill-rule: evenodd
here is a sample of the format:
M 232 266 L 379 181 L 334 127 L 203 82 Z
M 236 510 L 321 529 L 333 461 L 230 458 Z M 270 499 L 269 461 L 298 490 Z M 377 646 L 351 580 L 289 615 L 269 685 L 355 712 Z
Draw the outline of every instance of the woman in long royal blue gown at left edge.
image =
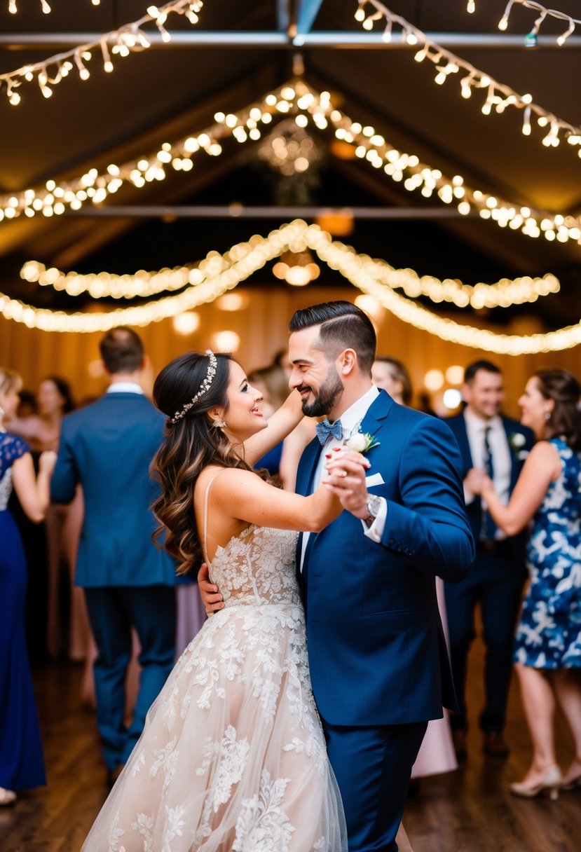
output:
M 26 443 L 3 430 L 3 420 L 14 417 L 20 388 L 20 376 L 0 367 L 0 805 L 13 803 L 16 790 L 46 783 L 26 654 L 26 561 L 7 506 L 14 488 L 26 515 L 43 520 L 56 454 L 43 452 L 36 477 Z

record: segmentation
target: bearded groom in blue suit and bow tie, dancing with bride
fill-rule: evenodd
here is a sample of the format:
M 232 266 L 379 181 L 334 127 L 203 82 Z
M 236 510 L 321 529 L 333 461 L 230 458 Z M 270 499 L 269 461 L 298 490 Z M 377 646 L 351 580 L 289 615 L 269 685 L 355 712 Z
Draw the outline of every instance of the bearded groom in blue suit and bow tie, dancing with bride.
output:
M 456 706 L 434 579 L 463 580 L 475 556 L 461 458 L 446 423 L 371 383 L 376 336 L 359 308 L 304 308 L 290 330 L 291 387 L 305 414 L 328 417 L 302 455 L 296 491 L 314 490 L 346 440 L 374 445 L 366 475 L 346 456 L 336 493 L 347 511 L 302 534 L 297 569 L 349 852 L 395 852 L 428 720 Z

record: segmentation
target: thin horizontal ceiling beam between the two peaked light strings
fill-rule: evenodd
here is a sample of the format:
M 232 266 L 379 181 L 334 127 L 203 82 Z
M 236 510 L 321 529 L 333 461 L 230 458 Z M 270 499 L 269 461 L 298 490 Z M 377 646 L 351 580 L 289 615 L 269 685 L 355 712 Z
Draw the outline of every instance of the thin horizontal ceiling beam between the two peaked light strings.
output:
M 244 204 L 118 204 L 68 210 L 67 218 L 78 217 L 150 219 L 313 219 L 316 216 L 346 216 L 354 219 L 466 219 L 455 207 L 317 207 L 310 205 Z

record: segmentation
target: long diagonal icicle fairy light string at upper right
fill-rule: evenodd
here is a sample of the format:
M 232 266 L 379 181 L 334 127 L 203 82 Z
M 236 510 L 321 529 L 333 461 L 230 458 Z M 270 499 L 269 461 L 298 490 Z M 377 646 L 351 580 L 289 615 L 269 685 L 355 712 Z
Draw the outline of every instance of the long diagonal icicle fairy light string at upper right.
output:
M 530 3 L 530 0 L 511 0 L 507 9 L 510 9 L 512 2 Z M 374 12 L 368 14 L 365 7 L 369 5 Z M 422 30 L 417 29 L 408 20 L 402 18 L 399 14 L 394 14 L 387 6 L 380 3 L 379 0 L 358 0 L 358 7 L 355 12 L 355 20 L 359 20 L 365 30 L 373 29 L 377 20 L 385 19 L 386 26 L 383 32 L 383 40 L 388 43 L 393 37 L 393 26 L 399 26 L 404 40 L 411 45 L 419 45 L 419 49 L 415 55 L 417 62 L 429 60 L 436 67 L 435 83 L 443 85 L 448 78 L 452 78 L 455 74 L 460 74 L 460 92 L 463 98 L 469 99 L 472 96 L 473 89 L 482 89 L 486 92 L 486 99 L 482 104 L 481 111 L 484 115 L 490 115 L 492 110 L 495 112 L 504 112 L 508 107 L 515 107 L 523 111 L 522 134 L 525 136 L 532 135 L 531 117 L 534 114 L 537 118 L 538 126 L 543 129 L 543 145 L 545 147 L 557 147 L 561 138 L 567 139 L 567 142 L 572 146 L 578 146 L 578 156 L 581 157 L 581 128 L 569 124 L 562 118 L 557 118 L 552 112 L 548 112 L 544 107 L 539 107 L 538 104 L 532 101 L 532 95 L 519 95 L 515 89 L 511 89 L 504 83 L 499 83 L 498 80 L 492 78 L 489 74 L 479 71 L 467 60 L 461 59 L 459 56 L 452 54 L 449 50 L 440 47 L 436 42 L 433 42 Z M 507 13 L 504 13 L 503 19 L 500 21 L 500 28 L 505 29 L 505 19 L 508 21 Z M 540 26 L 540 25 L 539 25 Z M 572 32 L 572 31 L 571 31 Z M 567 35 L 569 33 L 567 32 Z

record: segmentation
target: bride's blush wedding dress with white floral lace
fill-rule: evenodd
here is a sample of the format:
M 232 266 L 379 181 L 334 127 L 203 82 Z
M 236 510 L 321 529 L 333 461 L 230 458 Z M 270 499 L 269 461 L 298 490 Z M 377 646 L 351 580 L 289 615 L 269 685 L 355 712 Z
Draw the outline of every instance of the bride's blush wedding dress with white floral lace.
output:
M 295 550 L 296 533 L 254 525 L 218 548 L 225 608 L 176 663 L 83 852 L 346 852 Z

